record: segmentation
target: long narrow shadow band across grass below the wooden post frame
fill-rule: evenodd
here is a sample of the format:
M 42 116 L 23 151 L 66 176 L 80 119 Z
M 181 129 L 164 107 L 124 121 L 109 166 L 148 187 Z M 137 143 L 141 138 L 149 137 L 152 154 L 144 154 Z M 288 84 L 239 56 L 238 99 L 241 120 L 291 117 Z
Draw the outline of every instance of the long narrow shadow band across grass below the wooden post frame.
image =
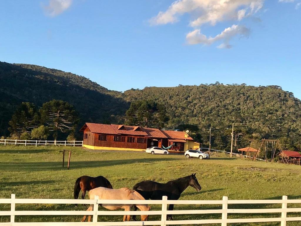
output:
M 170 161 L 170 158 L 158 158 L 158 159 L 120 159 L 120 160 L 103 160 L 103 161 L 77 161 L 70 162 L 70 169 L 80 169 L 80 168 L 93 168 L 93 167 L 103 167 L 103 166 L 114 166 L 114 165 L 127 165 L 133 163 L 153 163 L 159 161 Z M 0 165 L 0 170 L 3 171 L 47 171 L 47 170 L 65 170 L 62 168 L 62 162 L 4 162 Z

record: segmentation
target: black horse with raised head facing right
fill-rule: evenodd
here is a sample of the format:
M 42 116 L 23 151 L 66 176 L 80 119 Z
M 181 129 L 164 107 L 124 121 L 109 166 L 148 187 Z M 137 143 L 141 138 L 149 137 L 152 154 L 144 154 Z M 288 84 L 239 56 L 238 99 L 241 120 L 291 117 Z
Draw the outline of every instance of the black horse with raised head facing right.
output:
M 171 180 L 165 184 L 158 183 L 156 181 L 145 180 L 135 184 L 133 190 L 140 193 L 145 200 L 153 199 L 160 200 L 162 196 L 167 196 L 169 200 L 178 200 L 181 193 L 188 187 L 194 187 L 195 190 L 200 191 L 201 186 L 197 181 L 195 174 L 191 174 L 186 177 L 181 177 L 176 180 Z M 168 210 L 173 210 L 174 204 L 169 204 Z M 134 206 L 134 211 L 137 207 Z M 172 220 L 172 215 L 167 215 L 167 218 Z M 133 220 L 136 220 L 136 216 L 133 215 Z

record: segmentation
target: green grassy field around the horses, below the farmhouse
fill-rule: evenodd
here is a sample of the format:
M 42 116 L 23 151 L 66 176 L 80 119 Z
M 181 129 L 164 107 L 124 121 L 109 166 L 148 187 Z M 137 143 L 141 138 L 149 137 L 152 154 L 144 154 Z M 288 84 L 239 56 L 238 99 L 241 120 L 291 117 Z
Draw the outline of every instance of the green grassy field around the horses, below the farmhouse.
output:
M 188 187 L 180 199 L 215 200 L 228 196 L 229 199 L 289 199 L 301 198 L 301 167 L 270 162 L 252 162 L 224 154 L 213 154 L 210 160 L 186 159 L 184 155 L 150 155 L 145 152 L 91 151 L 81 147 L 72 150 L 70 170 L 62 168 L 62 149 L 66 147 L 0 146 L 0 198 L 73 198 L 75 180 L 82 175 L 102 175 L 110 180 L 113 188 L 129 187 L 142 180 L 169 180 L 196 173 L 202 190 L 197 192 Z M 86 197 L 87 198 L 87 197 Z M 294 205 L 295 207 L 300 207 Z M 85 210 L 79 205 L 28 205 L 17 204 L 17 210 Z M 229 208 L 280 208 L 278 205 L 229 205 Z M 292 207 L 288 205 L 288 207 Z M 179 209 L 220 209 L 220 206 L 180 206 Z M 0 204 L 0 210 L 9 210 L 9 205 Z M 102 208 L 101 208 L 102 209 Z M 152 206 L 159 210 L 160 206 Z M 280 214 L 233 215 L 234 217 L 279 217 Z M 297 216 L 288 214 L 288 216 Z M 119 219 L 120 218 L 120 219 Z M 175 215 L 180 219 L 214 219 L 212 215 Z M 21 221 L 80 221 L 81 216 L 16 216 Z M 139 219 L 139 218 L 138 218 Z M 150 216 L 158 220 L 159 216 Z M 121 221 L 120 217 L 101 216 L 99 221 Z M 0 222 L 8 222 L 0 216 Z M 297 226 L 301 222 L 288 222 Z M 213 225 L 213 224 L 211 224 Z M 229 225 L 280 225 L 280 223 L 241 223 Z

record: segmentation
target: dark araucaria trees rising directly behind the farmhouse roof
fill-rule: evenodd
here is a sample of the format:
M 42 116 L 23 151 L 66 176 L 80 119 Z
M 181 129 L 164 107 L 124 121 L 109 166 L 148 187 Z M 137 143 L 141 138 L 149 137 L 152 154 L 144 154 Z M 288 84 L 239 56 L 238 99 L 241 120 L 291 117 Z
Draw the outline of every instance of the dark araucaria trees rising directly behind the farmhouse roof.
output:
M 162 128 L 168 121 L 166 107 L 149 100 L 132 102 L 126 111 L 126 121 L 129 125 Z

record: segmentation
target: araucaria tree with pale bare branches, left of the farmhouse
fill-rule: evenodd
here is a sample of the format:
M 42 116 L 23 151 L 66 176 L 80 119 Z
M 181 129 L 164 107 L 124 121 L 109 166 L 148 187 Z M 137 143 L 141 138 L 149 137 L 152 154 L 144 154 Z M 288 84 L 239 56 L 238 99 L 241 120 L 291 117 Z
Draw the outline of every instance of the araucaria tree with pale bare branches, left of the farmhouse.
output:
M 72 105 L 62 100 L 52 100 L 42 105 L 41 121 L 52 131 L 54 139 L 59 133 L 73 133 L 79 117 Z

